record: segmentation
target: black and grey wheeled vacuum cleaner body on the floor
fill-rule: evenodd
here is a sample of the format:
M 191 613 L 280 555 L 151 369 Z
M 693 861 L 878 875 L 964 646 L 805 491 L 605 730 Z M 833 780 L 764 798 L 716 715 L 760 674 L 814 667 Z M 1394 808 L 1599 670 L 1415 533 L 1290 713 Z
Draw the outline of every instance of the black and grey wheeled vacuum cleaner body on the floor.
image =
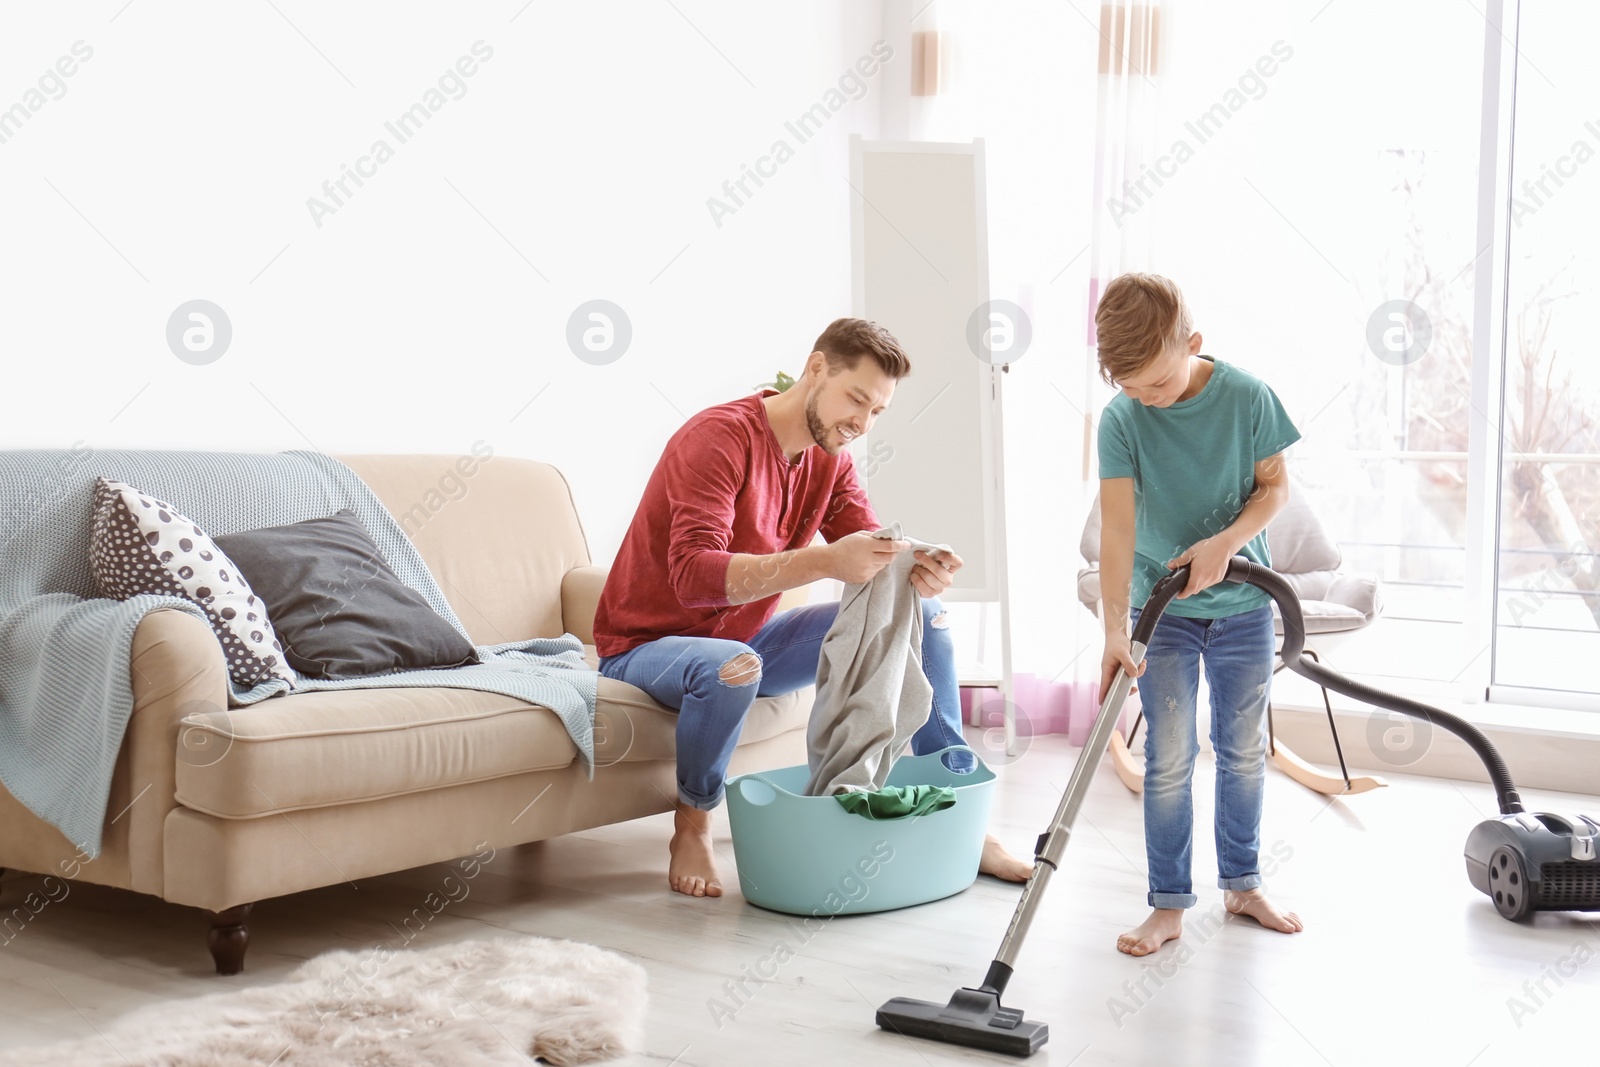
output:
M 1518 811 L 1472 827 L 1467 878 L 1509 920 L 1600 912 L 1600 817 Z

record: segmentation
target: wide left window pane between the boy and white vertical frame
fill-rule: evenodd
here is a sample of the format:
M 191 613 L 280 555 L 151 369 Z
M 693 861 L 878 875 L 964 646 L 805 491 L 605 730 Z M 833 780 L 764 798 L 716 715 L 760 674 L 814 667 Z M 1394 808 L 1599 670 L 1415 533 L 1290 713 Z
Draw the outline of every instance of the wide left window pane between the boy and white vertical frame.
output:
M 1341 669 L 1451 685 L 1469 659 L 1483 18 L 1437 0 L 1190 11 L 1162 101 L 1171 155 L 1192 154 L 1138 206 L 1150 267 L 1184 286 L 1205 352 L 1283 400 L 1298 488 L 1346 569 L 1382 581 L 1384 617 L 1338 646 Z

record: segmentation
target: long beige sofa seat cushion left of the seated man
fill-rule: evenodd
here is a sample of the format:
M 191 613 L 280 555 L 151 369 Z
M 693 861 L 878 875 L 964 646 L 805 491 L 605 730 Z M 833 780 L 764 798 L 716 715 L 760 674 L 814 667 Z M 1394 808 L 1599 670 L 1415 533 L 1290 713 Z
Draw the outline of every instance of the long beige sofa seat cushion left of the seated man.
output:
M 250 819 L 554 769 L 574 758 L 562 720 L 512 696 L 298 693 L 184 718 L 176 797 L 195 811 Z

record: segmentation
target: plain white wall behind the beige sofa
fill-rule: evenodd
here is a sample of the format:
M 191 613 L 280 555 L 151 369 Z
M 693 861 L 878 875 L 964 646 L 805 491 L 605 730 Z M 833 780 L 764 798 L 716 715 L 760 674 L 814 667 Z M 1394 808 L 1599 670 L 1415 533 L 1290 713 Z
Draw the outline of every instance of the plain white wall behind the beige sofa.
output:
M 848 138 L 910 56 L 808 142 L 784 123 L 885 35 L 878 5 L 275 3 L 5 14 L 0 109 L 27 115 L 0 125 L 0 446 L 483 440 L 560 466 L 606 560 L 683 419 L 850 312 Z M 402 144 L 384 123 L 480 40 Z M 794 158 L 718 227 L 707 198 L 779 138 Z M 376 139 L 394 157 L 317 226 Z M 205 366 L 165 338 L 195 298 L 234 330 Z M 632 320 L 606 366 L 565 339 L 594 298 Z

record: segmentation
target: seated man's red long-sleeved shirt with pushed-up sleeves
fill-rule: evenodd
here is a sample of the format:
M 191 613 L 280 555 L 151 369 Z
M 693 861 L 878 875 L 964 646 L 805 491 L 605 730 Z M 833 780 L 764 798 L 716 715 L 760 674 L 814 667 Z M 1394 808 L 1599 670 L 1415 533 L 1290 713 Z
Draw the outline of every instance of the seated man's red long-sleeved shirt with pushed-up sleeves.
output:
M 766 418 L 766 390 L 701 411 L 672 435 L 645 486 L 595 611 L 595 648 L 662 637 L 750 640 L 778 595 L 728 603 L 734 553 L 803 549 L 877 530 L 850 453 L 806 448 L 790 464 Z

